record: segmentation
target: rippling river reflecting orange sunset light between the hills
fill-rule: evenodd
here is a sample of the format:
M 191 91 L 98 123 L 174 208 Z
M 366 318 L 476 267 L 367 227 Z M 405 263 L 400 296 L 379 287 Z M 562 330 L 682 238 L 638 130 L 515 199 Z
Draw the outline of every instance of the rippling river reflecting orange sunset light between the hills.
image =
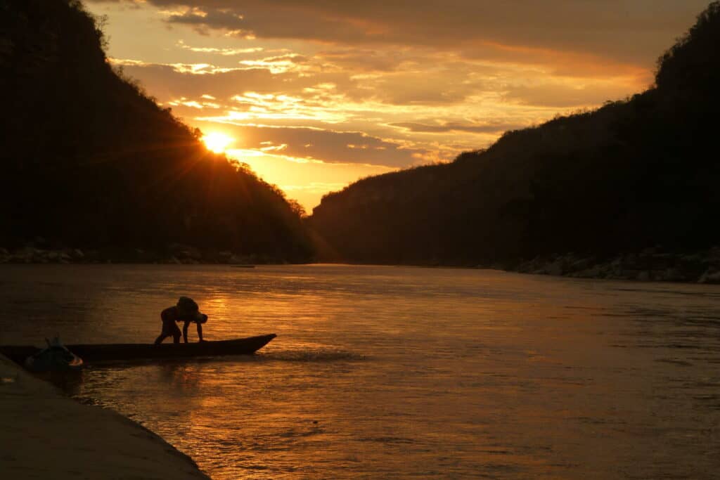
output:
M 213 479 L 711 479 L 720 287 L 390 266 L 0 266 L 0 344 L 149 343 L 180 295 L 255 356 L 64 385 Z M 194 341 L 196 333 L 190 329 Z

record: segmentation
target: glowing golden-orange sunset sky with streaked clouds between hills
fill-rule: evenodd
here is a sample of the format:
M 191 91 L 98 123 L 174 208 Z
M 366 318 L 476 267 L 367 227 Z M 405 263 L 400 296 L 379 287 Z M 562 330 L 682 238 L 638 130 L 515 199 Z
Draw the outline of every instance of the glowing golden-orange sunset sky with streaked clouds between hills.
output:
M 91 0 L 109 57 L 297 199 L 622 99 L 708 0 Z

